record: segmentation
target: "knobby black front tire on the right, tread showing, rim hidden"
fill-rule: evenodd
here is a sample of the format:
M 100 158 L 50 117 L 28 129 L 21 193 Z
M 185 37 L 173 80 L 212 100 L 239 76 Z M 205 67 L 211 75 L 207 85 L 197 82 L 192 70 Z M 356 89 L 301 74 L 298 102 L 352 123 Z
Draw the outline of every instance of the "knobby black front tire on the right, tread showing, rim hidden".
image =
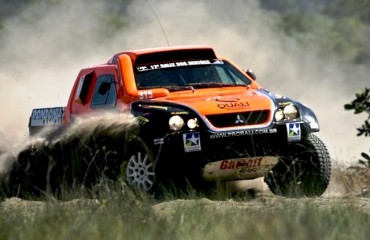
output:
M 329 185 L 331 162 L 324 143 L 310 134 L 303 143 L 289 146 L 265 177 L 270 190 L 286 197 L 321 196 Z

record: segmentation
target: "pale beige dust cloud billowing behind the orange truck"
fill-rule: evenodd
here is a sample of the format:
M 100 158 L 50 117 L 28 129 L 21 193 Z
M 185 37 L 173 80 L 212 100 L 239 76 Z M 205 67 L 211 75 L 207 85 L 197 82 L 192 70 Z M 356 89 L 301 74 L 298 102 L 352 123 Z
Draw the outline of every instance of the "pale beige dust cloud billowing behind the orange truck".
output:
M 257 0 L 151 0 L 160 22 L 147 0 L 52 2 L 30 5 L 1 31 L 0 140 L 8 148 L 27 138 L 33 108 L 66 104 L 79 69 L 118 51 L 166 46 L 166 38 L 172 46 L 211 45 L 254 69 L 262 86 L 312 107 L 319 136 L 336 161 L 357 163 L 369 148 L 367 139 L 356 137 L 363 119 L 343 109 L 368 84 L 368 66 L 342 65 L 303 49 L 276 30 L 280 16 Z M 102 29 L 112 12 L 122 17 L 123 27 Z

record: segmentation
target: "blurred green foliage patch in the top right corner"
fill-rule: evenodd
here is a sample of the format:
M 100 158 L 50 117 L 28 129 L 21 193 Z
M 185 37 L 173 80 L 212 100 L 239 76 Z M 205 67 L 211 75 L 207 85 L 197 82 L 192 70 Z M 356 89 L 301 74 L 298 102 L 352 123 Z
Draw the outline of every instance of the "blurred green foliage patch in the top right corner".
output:
M 370 64 L 370 0 L 261 0 L 280 14 L 278 30 L 340 62 Z

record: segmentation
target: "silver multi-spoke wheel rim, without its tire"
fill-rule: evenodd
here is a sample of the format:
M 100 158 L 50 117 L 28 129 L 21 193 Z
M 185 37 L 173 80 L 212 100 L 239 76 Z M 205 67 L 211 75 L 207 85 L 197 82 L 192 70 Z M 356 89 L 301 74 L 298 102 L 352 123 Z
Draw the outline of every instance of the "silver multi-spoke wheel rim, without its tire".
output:
M 148 192 L 154 185 L 153 163 L 147 154 L 131 155 L 126 168 L 126 180 L 130 187 Z

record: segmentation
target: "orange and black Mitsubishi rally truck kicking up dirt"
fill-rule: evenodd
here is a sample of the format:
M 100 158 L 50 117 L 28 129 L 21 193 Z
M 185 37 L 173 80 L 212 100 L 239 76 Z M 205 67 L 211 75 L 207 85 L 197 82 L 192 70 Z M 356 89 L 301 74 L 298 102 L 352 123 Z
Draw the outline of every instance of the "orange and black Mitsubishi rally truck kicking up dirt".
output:
M 124 51 L 82 69 L 66 107 L 32 111 L 30 134 L 38 136 L 50 125 L 65 129 L 80 117 L 106 111 L 134 116 L 136 130 L 122 133 L 124 144 L 117 136 L 104 136 L 106 141 L 94 146 L 94 151 L 108 147 L 116 153 L 105 158 L 109 163 L 96 164 L 104 166 L 92 174 L 94 179 L 110 169 L 105 176 L 150 193 L 186 184 L 205 190 L 216 182 L 264 177 L 269 189 L 283 196 L 320 196 L 329 184 L 330 156 L 314 135 L 320 130 L 314 112 L 262 88 L 251 70 L 217 56 L 209 46 Z M 50 142 L 39 148 L 45 150 Z M 34 149 L 26 151 L 28 157 L 20 154 L 13 168 L 18 188 L 25 182 L 21 178 L 28 185 L 41 181 L 25 170 Z M 72 171 L 71 179 L 89 171 L 87 166 L 78 168 L 82 173 L 71 166 L 62 169 Z

